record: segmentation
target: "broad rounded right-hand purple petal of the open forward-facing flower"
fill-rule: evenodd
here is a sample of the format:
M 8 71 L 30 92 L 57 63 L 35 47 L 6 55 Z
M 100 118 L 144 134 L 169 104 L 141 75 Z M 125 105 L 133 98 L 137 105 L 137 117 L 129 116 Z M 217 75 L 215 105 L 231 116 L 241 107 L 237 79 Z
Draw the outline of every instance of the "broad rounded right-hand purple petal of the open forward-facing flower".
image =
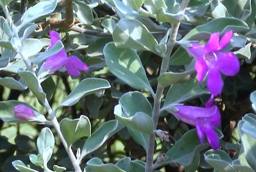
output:
M 227 76 L 236 75 L 240 69 L 240 62 L 233 52 L 217 52 L 218 69 Z

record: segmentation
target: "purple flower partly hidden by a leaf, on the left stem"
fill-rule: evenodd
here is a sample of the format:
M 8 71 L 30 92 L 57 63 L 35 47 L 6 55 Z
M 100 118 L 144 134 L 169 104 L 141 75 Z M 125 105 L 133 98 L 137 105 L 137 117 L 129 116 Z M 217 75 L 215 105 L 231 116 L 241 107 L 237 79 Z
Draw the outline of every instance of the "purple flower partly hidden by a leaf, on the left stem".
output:
M 49 36 L 51 37 L 49 48 L 51 48 L 58 40 L 61 40 L 59 33 L 55 31 L 50 31 Z M 51 68 L 49 72 L 56 72 L 63 66 L 65 66 L 67 72 L 74 77 L 77 77 L 80 74 L 79 70 L 86 71 L 89 69 L 88 66 L 76 56 L 67 57 L 64 48 L 61 49 L 60 52 L 47 58 L 43 69 Z

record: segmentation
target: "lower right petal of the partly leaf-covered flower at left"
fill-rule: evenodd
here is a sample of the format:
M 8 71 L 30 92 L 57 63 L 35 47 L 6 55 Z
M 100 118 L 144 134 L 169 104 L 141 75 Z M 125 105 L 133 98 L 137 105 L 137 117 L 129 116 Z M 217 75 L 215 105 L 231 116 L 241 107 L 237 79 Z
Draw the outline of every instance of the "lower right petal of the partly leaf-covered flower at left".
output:
M 65 64 L 65 68 L 67 72 L 74 77 L 77 77 L 80 74 L 79 70 L 85 71 L 89 69 L 88 66 L 84 64 L 84 62 L 75 56 L 68 58 L 68 62 Z

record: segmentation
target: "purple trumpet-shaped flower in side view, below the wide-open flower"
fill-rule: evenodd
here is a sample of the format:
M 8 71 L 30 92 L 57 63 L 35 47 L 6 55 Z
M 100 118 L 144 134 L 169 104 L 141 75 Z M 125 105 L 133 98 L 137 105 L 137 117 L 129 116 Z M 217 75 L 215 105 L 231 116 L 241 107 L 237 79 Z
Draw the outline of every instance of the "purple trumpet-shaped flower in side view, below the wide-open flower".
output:
M 220 139 L 214 128 L 220 125 L 221 119 L 217 106 L 210 106 L 212 102 L 213 97 L 205 104 L 205 108 L 176 105 L 178 111 L 172 113 L 181 121 L 196 126 L 201 145 L 204 144 L 204 135 L 206 135 L 210 146 L 216 150 L 220 148 Z

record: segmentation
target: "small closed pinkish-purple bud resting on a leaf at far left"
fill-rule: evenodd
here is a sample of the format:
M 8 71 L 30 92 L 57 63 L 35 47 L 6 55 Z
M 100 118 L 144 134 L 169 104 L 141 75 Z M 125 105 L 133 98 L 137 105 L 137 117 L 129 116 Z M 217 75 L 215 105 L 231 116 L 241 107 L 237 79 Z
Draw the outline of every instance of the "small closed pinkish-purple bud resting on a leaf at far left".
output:
M 14 115 L 23 120 L 36 118 L 32 108 L 25 106 L 24 104 L 18 104 L 13 107 Z

